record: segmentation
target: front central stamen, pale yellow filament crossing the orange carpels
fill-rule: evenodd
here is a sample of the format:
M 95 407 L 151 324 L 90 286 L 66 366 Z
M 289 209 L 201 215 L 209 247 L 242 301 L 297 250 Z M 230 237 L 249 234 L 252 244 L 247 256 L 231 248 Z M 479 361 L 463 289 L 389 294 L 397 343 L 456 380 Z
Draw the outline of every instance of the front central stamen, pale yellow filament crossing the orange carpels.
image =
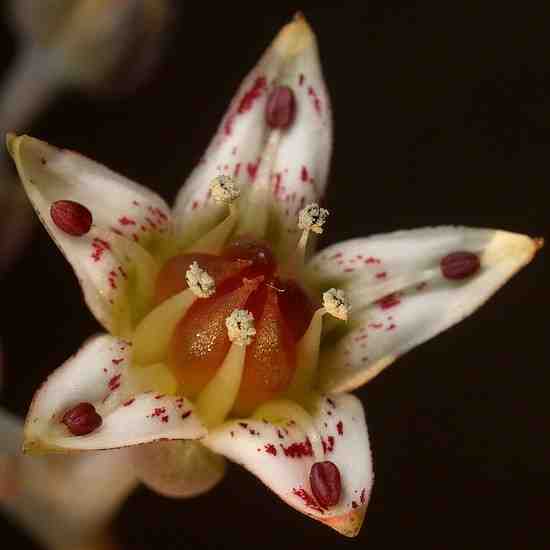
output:
M 212 428 L 221 424 L 231 412 L 239 393 L 246 359 L 246 346 L 256 334 L 254 316 L 236 309 L 225 320 L 231 348 L 216 375 L 202 390 L 197 407 L 203 423 Z

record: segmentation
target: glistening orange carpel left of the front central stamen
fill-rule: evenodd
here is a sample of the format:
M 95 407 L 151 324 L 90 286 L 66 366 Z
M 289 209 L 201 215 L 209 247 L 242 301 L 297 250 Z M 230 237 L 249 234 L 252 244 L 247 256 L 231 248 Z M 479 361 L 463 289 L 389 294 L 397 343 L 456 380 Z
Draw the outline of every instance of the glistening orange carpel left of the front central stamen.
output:
M 235 290 L 197 300 L 178 323 L 168 365 L 187 397 L 195 397 L 222 364 L 230 346 L 225 319 L 245 306 L 263 279 L 243 279 Z

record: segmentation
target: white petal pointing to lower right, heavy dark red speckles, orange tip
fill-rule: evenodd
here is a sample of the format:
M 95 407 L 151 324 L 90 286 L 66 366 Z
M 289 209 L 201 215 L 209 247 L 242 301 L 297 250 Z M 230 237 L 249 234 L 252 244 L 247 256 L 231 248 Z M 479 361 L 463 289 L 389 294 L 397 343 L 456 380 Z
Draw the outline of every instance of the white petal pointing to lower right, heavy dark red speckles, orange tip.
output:
M 261 419 L 225 423 L 203 444 L 242 464 L 296 510 L 340 533 L 357 535 L 365 516 L 372 483 L 372 457 L 361 402 L 352 395 L 323 396 L 311 411 L 321 438 L 321 456 L 292 419 L 274 425 Z M 338 504 L 323 508 L 313 496 L 310 470 L 328 460 L 340 471 Z

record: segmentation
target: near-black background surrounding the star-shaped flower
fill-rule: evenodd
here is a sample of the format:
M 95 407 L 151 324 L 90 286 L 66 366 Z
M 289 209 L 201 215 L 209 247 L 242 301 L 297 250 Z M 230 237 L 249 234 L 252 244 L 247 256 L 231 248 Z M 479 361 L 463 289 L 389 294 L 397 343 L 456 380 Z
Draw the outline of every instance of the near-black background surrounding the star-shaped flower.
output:
M 241 78 L 300 8 L 318 34 L 335 113 L 325 244 L 438 224 L 548 237 L 550 7 L 261 4 L 185 2 L 160 70 L 137 95 L 67 93 L 32 134 L 171 200 Z M 5 32 L 3 66 L 14 53 Z M 357 392 L 376 482 L 354 541 L 235 465 L 194 500 L 138 490 L 116 518 L 118 540 L 136 550 L 548 547 L 547 255 Z M 98 326 L 38 226 L 1 292 L 3 404 L 23 415 L 38 383 Z M 35 548 L 0 521 L 2 540 Z

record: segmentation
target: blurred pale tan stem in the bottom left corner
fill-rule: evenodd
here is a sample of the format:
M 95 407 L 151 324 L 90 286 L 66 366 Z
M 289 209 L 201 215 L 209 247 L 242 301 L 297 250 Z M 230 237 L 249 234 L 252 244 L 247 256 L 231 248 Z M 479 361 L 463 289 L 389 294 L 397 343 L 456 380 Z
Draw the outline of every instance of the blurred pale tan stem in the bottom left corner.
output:
M 106 527 L 136 486 L 127 451 L 28 457 L 0 410 L 0 508 L 45 548 L 110 548 Z

